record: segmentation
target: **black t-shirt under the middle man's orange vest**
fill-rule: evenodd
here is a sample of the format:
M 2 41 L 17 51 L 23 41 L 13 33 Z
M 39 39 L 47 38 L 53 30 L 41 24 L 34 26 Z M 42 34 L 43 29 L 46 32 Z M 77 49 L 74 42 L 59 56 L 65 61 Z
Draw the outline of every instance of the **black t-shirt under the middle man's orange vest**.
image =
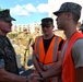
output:
M 50 43 L 51 43 L 51 40 L 52 40 L 54 37 L 55 37 L 55 35 L 51 38 L 49 38 L 49 39 L 44 39 L 45 52 L 47 52 L 48 47 L 49 47 L 49 45 L 50 45 Z M 63 44 L 63 39 L 60 42 L 58 50 L 61 50 L 62 44 Z

